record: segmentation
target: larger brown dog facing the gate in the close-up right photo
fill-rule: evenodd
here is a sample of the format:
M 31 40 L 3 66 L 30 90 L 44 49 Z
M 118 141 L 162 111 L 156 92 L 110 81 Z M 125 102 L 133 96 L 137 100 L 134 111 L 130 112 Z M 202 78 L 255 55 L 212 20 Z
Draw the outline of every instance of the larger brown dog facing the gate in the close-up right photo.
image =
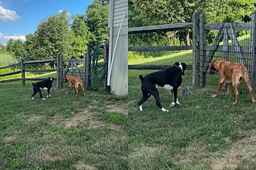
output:
M 254 90 L 252 90 L 252 85 L 250 83 L 249 71 L 247 68 L 238 62 L 232 63 L 229 61 L 213 60 L 209 63 L 209 74 L 219 73 L 217 92 L 213 97 L 219 96 L 219 91 L 221 91 L 222 83 L 227 83 L 227 95 L 231 92 L 231 85 L 235 91 L 235 103 L 239 100 L 238 86 L 242 79 L 245 80 L 247 87 L 250 90 L 250 95 L 252 96 L 252 102 L 255 102 Z M 226 96 L 227 96 L 226 95 Z M 235 104 L 234 103 L 234 104 Z

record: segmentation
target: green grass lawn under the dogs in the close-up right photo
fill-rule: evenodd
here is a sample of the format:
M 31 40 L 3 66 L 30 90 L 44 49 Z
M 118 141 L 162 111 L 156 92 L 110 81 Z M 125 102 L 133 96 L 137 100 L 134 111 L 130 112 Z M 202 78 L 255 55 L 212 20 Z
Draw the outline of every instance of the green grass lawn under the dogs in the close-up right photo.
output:
M 233 105 L 231 96 L 212 98 L 217 87 L 192 89 L 191 72 L 185 72 L 178 90 L 182 105 L 169 108 L 170 91 L 158 88 L 163 113 L 150 97 L 139 111 L 142 98 L 139 74 L 152 70 L 129 70 L 129 169 L 256 169 L 256 103 L 249 93 Z

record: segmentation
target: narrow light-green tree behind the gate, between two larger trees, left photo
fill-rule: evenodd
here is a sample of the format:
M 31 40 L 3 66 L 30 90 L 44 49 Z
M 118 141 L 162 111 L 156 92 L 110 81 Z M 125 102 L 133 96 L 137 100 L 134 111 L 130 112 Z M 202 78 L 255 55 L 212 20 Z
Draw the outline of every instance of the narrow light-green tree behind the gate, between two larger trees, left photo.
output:
M 71 56 L 78 58 L 85 54 L 91 33 L 89 33 L 89 28 L 85 23 L 85 15 L 73 15 L 72 19 L 73 23 L 71 24 L 71 30 L 73 32 L 73 54 L 71 54 Z

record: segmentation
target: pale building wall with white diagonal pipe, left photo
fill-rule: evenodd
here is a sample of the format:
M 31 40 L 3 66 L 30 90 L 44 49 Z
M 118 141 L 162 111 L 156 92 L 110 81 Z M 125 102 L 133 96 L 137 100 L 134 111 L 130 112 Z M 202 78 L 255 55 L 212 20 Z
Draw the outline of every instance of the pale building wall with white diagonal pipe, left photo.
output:
M 124 16 L 125 14 L 125 16 Z M 119 28 L 122 27 L 118 36 Z M 111 91 L 116 95 L 128 94 L 128 0 L 109 1 L 109 69 Z M 116 45 L 117 40 L 117 45 Z M 114 47 L 116 51 L 114 53 Z M 112 61 L 113 60 L 113 61 Z

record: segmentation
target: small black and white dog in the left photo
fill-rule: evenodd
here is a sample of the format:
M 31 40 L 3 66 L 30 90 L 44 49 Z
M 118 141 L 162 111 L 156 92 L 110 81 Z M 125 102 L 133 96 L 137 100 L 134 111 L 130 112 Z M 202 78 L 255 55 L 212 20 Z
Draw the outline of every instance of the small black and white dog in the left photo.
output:
M 43 98 L 42 96 L 42 92 L 40 90 L 40 88 L 43 88 L 44 90 L 48 91 L 48 95 L 46 96 L 47 98 L 50 97 L 50 88 L 52 87 L 52 83 L 53 83 L 54 78 L 53 77 L 48 77 L 48 79 L 45 79 L 41 82 L 37 82 L 37 83 L 32 83 L 33 85 L 33 91 L 34 94 L 32 95 L 32 100 L 34 100 L 34 96 L 39 93 L 40 97 L 42 98 L 42 100 L 45 100 L 45 98 Z

